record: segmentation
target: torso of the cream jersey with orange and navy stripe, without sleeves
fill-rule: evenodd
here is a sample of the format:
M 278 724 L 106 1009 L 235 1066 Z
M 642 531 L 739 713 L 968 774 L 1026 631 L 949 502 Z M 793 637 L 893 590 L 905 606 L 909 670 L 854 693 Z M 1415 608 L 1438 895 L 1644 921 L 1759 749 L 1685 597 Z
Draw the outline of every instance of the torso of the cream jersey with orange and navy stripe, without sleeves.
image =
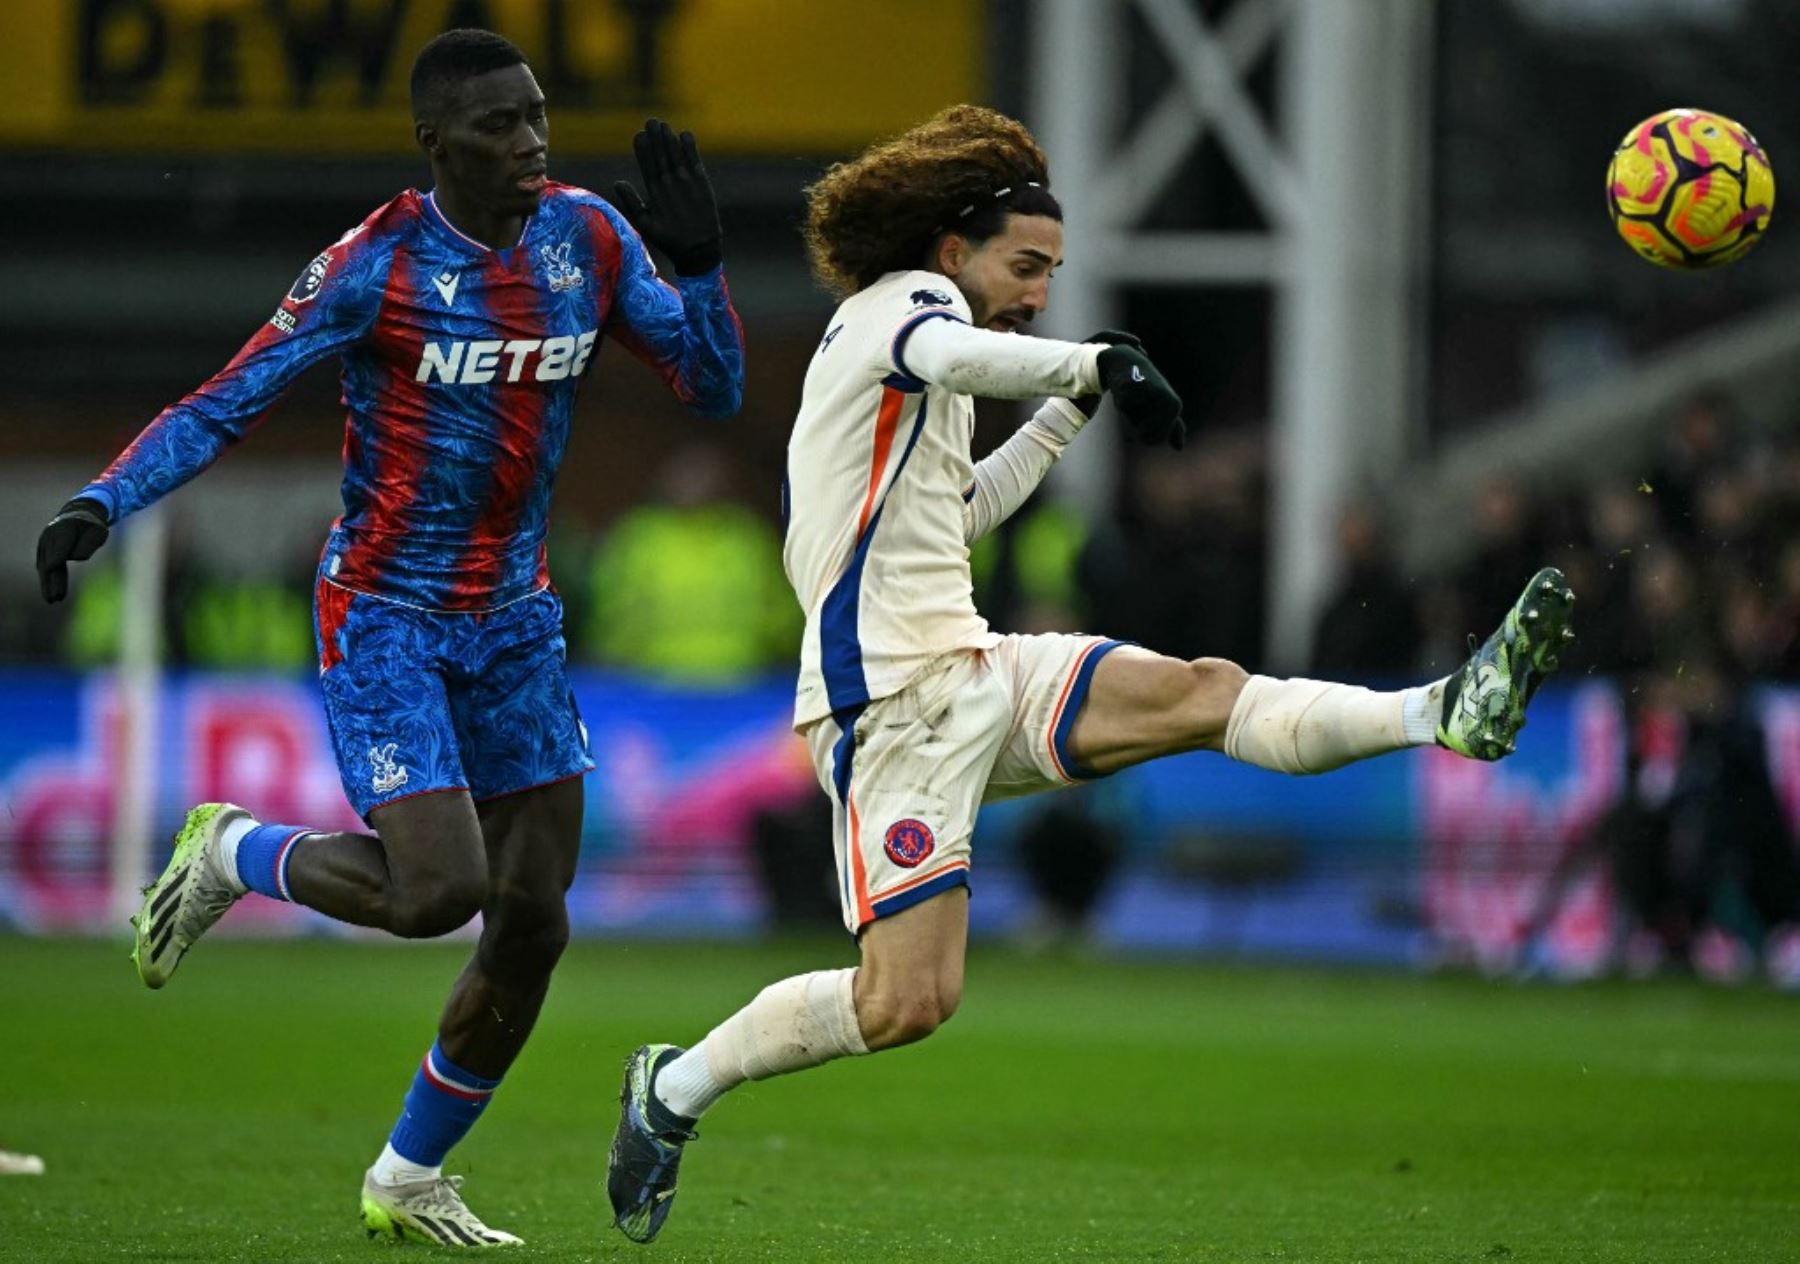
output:
M 963 542 L 974 400 L 907 373 L 925 321 L 968 321 L 936 272 L 893 272 L 832 317 L 788 439 L 788 582 L 806 610 L 794 724 L 895 693 L 947 650 L 999 637 Z

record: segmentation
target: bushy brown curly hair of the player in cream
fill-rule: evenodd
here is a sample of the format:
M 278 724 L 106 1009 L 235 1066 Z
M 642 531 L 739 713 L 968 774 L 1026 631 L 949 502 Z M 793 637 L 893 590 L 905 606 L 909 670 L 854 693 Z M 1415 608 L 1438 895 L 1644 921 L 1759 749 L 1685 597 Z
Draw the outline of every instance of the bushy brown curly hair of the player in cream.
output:
M 981 241 L 1008 211 L 1060 220 L 1048 184 L 1049 162 L 1022 122 L 985 106 L 950 106 L 806 187 L 806 259 L 819 284 L 844 299 L 887 272 L 920 266 L 947 227 Z

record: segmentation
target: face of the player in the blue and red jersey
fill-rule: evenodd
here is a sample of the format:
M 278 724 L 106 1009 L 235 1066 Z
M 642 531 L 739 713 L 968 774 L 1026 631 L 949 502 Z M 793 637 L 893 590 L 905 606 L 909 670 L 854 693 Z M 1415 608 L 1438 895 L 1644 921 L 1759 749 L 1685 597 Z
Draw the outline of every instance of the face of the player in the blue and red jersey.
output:
M 544 196 L 549 137 L 531 67 L 473 76 L 457 88 L 437 128 L 437 180 L 493 214 L 531 214 Z

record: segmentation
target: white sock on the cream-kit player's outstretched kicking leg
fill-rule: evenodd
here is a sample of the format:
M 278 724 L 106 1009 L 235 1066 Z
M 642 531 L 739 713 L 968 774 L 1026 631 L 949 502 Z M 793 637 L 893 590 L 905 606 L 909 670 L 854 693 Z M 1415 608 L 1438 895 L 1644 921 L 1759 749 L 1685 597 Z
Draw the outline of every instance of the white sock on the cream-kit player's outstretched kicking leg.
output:
M 1431 740 L 1442 682 L 1377 693 L 1332 681 L 1253 675 L 1226 722 L 1226 754 L 1276 772 L 1330 772 Z

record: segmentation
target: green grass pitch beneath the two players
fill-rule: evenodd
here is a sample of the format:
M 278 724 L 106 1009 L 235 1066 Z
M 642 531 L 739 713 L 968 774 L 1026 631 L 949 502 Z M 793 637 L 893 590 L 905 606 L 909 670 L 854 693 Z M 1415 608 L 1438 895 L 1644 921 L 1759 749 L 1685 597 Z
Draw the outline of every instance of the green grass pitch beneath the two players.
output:
M 461 947 L 0 940 L 0 1259 L 380 1260 L 356 1226 Z M 513 1259 L 1800 1260 L 1800 1001 L 976 949 L 931 1041 L 754 1084 L 652 1248 L 605 1223 L 617 1073 L 848 960 L 585 943 L 452 1156 Z

